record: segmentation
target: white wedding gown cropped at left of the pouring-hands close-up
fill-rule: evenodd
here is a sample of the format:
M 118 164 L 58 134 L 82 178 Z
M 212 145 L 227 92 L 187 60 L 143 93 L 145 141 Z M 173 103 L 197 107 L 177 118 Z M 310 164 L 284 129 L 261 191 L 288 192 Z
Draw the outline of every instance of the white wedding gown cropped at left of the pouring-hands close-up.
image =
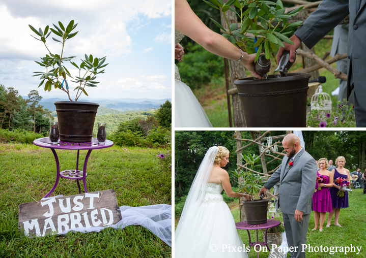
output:
M 183 39 L 184 34 L 175 30 L 175 45 Z M 175 66 L 175 127 L 212 127 L 201 104 L 192 90 L 181 81 L 178 67 Z

